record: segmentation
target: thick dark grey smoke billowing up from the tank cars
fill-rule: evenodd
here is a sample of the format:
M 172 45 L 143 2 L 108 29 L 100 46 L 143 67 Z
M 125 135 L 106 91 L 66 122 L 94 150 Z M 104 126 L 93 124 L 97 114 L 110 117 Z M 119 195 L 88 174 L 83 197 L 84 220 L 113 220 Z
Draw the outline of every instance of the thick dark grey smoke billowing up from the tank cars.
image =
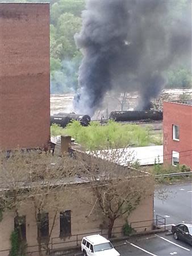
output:
M 172 0 L 87 1 L 75 35 L 84 55 L 76 112 L 92 116 L 106 92 L 116 88 L 138 90 L 137 109 L 148 108 L 166 83 L 164 71 L 191 57 L 191 2 L 186 5 L 175 20 Z

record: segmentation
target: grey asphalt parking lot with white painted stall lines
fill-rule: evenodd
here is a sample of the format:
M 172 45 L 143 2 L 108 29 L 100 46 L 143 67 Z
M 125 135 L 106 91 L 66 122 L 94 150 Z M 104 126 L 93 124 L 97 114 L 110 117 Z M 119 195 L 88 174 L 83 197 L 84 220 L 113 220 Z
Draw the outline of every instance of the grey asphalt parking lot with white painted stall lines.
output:
M 192 185 L 191 182 L 167 185 L 168 198 L 161 201 L 155 198 L 155 215 L 166 218 L 166 228 L 172 224 L 192 222 Z M 114 243 L 121 256 L 187 256 L 192 255 L 192 246 L 174 240 L 173 234 L 158 233 L 143 237 L 132 237 L 127 241 Z M 80 254 L 77 254 L 80 255 Z M 110 256 L 110 255 L 108 255 Z

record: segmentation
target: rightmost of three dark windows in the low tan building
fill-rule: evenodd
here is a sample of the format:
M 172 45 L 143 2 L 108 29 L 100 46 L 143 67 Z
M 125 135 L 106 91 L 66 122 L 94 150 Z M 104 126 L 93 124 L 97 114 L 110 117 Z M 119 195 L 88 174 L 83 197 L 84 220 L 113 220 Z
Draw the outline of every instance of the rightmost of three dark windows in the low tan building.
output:
M 71 234 L 71 212 L 65 210 L 60 212 L 60 237 L 69 236 Z

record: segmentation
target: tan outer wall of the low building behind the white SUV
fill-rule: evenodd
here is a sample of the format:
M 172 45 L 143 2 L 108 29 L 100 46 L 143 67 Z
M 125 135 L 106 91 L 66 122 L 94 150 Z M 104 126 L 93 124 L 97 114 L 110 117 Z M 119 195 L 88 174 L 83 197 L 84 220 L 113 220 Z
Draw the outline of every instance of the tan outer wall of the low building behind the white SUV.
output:
M 78 240 L 81 241 L 82 237 L 86 233 L 90 232 L 101 232 L 101 225 L 107 223 L 107 219 L 103 216 L 101 210 L 99 210 L 98 205 L 95 204 L 95 196 L 91 192 L 90 188 L 87 187 L 87 184 L 79 184 L 78 187 L 67 187 L 63 195 L 60 197 L 57 195 L 57 199 L 60 201 L 60 210 L 71 210 L 71 224 L 72 224 L 72 236 L 66 238 L 59 238 L 60 235 L 60 216 L 57 214 L 55 226 L 52 232 L 52 238 L 54 243 L 53 249 L 62 248 L 65 246 L 75 246 L 76 245 L 76 234 L 82 234 L 78 236 Z M 51 230 L 51 225 L 53 222 L 54 216 L 54 204 L 52 203 L 47 207 L 47 212 L 49 212 L 49 230 Z M 22 204 L 22 207 L 19 210 L 20 215 L 26 215 L 26 233 L 27 233 L 27 244 L 28 251 L 34 251 L 37 249 L 37 228 L 35 222 L 35 212 L 32 207 L 32 203 L 28 201 L 27 204 Z M 148 221 L 153 219 L 153 195 L 145 198 L 141 201 L 140 205 L 132 212 L 128 221 Z M 126 216 L 119 218 L 115 221 L 114 226 L 122 227 L 126 221 Z M 152 228 L 152 221 L 145 222 L 142 225 L 149 225 L 148 229 Z M 137 226 L 141 224 L 137 224 Z M 151 225 L 151 226 L 150 226 Z M 0 255 L 7 256 L 9 251 L 4 253 L 1 250 L 9 250 L 10 248 L 10 234 L 14 229 L 14 212 L 5 212 L 3 214 L 3 220 L 0 222 Z M 144 230 L 144 229 L 143 229 Z M 121 232 L 122 228 L 114 228 L 114 232 Z M 107 228 L 105 228 L 104 233 L 107 234 Z M 64 241 L 69 241 L 69 243 L 64 243 Z M 30 247 L 35 246 L 35 247 Z

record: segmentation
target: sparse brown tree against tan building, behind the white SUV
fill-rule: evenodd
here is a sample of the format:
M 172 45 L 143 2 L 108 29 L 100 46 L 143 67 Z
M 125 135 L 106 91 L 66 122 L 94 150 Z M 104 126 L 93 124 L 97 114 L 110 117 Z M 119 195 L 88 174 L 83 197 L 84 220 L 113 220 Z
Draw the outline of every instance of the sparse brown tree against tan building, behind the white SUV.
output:
M 141 201 L 153 196 L 154 191 L 152 175 L 116 164 L 123 154 L 119 150 L 92 151 L 86 159 L 89 163 L 86 177 L 95 195 L 90 214 L 97 210 L 104 216 L 102 228 L 108 229 L 108 238 L 112 237 L 115 221 L 124 218 L 126 222 Z M 89 197 L 82 200 L 90 204 Z

